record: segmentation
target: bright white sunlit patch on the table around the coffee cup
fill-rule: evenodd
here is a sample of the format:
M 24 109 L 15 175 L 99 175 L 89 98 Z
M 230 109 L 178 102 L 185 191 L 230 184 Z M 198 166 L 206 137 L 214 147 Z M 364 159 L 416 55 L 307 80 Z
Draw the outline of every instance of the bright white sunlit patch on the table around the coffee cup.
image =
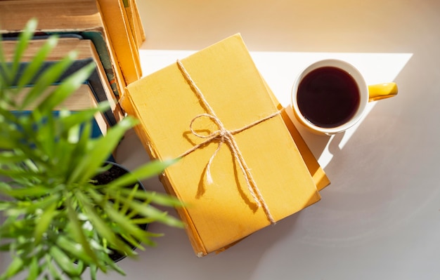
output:
M 170 51 L 170 50 L 141 50 L 141 63 L 143 75 L 153 73 L 167 65 L 175 63 L 177 59 L 186 58 L 194 51 Z M 293 83 L 296 77 L 302 72 L 302 69 L 313 62 L 324 60 L 328 58 L 335 58 L 345 60 L 351 65 L 354 65 L 364 76 L 368 84 L 380 84 L 388 81 L 394 81 L 401 69 L 410 60 L 412 54 L 410 53 L 293 53 L 293 52 L 264 52 L 252 51 L 252 59 L 254 60 L 259 72 L 264 77 L 268 86 L 276 95 L 283 107 L 287 108 L 287 113 L 290 115 L 292 121 L 297 123 L 293 116 L 290 105 L 290 95 Z M 384 102 L 384 101 L 382 101 Z M 367 111 L 374 107 L 376 102 L 371 102 L 368 105 Z M 340 138 L 339 148 L 344 147 L 351 135 L 356 131 L 363 119 L 356 124 L 354 128 L 349 129 Z M 304 137 L 308 137 L 311 133 L 304 131 L 302 127 L 297 125 L 303 132 Z M 313 138 L 326 139 L 328 142 L 332 137 L 311 135 Z M 320 152 L 315 151 L 316 147 L 310 145 L 311 149 L 318 159 L 321 166 L 325 167 L 332 159 L 327 146 Z

